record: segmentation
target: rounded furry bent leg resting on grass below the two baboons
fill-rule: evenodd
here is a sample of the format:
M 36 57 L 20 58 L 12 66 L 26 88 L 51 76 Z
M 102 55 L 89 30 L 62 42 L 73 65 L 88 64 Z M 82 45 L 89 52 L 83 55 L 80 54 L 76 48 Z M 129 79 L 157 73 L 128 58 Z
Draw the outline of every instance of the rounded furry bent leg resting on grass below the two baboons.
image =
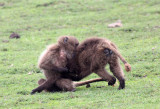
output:
M 59 87 L 62 91 L 75 91 L 73 81 L 70 79 L 58 79 L 56 81 L 56 86 Z

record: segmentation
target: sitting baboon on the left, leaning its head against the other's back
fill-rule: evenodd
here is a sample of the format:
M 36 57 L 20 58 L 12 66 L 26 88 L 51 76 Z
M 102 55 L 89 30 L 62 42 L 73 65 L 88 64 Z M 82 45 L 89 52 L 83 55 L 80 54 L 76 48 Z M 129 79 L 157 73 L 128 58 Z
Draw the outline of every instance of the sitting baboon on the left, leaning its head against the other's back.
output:
M 52 90 L 52 84 L 60 79 L 61 73 L 68 72 L 67 61 L 74 57 L 78 40 L 73 36 L 62 36 L 58 44 L 50 45 L 40 56 L 38 67 L 43 70 L 45 79 L 40 79 L 39 87 L 32 90 L 31 94 L 42 90 Z

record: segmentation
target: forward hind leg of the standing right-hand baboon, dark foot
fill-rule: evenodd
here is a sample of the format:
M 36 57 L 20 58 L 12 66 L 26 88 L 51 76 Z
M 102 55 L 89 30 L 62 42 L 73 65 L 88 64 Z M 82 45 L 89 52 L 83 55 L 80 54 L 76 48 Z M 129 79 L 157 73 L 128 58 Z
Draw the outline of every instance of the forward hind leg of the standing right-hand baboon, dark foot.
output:
M 114 85 L 116 82 L 116 78 L 110 75 L 105 69 L 98 70 L 95 73 L 102 77 L 104 80 L 108 81 L 108 85 Z

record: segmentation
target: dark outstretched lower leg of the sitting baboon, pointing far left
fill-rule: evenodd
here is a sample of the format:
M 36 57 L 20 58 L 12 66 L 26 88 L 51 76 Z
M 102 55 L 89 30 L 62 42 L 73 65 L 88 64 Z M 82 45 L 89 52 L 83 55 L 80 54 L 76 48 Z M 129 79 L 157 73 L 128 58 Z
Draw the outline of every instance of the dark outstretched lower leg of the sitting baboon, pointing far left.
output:
M 36 92 L 40 93 L 42 92 L 43 90 L 47 90 L 47 89 L 50 89 L 54 83 L 55 83 L 55 79 L 54 78 L 49 78 L 47 79 L 43 84 L 41 84 L 39 87 L 35 88 L 32 90 L 31 94 L 34 94 Z

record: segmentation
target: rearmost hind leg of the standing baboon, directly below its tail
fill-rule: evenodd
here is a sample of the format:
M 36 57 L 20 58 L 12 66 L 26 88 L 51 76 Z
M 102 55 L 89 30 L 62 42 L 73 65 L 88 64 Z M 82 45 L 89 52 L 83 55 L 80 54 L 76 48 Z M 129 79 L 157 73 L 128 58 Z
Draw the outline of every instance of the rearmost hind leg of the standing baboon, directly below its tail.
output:
M 120 66 L 118 58 L 114 58 L 114 60 L 111 60 L 109 62 L 110 64 L 110 70 L 113 73 L 113 75 L 119 80 L 120 85 L 119 85 L 119 90 L 125 88 L 125 78 L 124 78 L 124 73 L 123 70 Z

